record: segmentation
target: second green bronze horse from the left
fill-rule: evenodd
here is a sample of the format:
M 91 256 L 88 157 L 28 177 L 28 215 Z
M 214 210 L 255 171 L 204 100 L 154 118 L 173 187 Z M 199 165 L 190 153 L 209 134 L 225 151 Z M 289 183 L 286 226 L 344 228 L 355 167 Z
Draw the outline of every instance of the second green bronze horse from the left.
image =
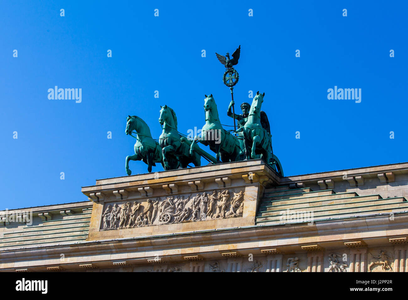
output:
M 173 170 L 178 167 L 186 168 L 190 162 L 195 167 L 201 165 L 201 157 L 197 151 L 191 151 L 188 144 L 182 143 L 180 133 L 177 131 L 177 117 L 173 109 L 167 105 L 160 106 L 159 123 L 163 132 L 159 138 L 162 147 L 165 170 Z

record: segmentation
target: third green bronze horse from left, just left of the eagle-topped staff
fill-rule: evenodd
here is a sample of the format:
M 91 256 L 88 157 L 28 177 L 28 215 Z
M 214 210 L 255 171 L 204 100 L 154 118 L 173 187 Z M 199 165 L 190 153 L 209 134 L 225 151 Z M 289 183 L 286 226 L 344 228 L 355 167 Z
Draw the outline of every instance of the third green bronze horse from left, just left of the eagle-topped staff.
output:
M 205 146 L 210 146 L 211 151 L 216 154 L 216 159 L 222 162 L 236 162 L 240 160 L 239 142 L 237 137 L 226 131 L 218 116 L 217 104 L 213 95 L 204 95 L 205 124 L 201 131 L 201 136 L 195 136 L 191 144 L 190 153 L 193 153 L 194 144 L 200 142 Z

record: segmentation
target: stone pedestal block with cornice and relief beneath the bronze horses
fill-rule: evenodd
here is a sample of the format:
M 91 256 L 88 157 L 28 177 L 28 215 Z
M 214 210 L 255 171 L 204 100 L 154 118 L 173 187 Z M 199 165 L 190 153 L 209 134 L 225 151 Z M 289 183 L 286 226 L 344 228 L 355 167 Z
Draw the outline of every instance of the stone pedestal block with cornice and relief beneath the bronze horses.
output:
M 276 184 L 262 160 L 97 180 L 82 187 L 94 202 L 87 240 L 251 226 Z

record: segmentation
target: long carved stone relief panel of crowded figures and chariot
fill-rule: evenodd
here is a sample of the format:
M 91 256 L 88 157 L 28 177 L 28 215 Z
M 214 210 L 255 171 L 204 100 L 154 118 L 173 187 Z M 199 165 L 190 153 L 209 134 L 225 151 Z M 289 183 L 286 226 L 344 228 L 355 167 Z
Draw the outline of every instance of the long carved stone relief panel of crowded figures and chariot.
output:
M 102 230 L 242 217 L 244 191 L 218 190 L 164 199 L 105 204 Z

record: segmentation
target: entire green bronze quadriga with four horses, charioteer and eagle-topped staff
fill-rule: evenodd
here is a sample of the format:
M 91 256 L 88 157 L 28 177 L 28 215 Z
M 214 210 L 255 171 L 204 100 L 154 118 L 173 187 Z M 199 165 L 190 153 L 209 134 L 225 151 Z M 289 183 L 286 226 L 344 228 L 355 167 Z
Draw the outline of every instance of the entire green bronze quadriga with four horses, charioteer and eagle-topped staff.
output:
M 215 53 L 218 60 L 226 68 L 223 82 L 230 88 L 232 99 L 227 115 L 234 119 L 234 130 L 238 136 L 233 136 L 222 127 L 217 104 L 215 104 L 212 94 L 210 96 L 205 95 L 205 124 L 202 127 L 201 136 L 195 136 L 193 140 L 182 136 L 177 131 L 176 114 L 167 105 L 160 106 L 159 123 L 162 125 L 163 131 L 159 142 L 153 140 L 149 127 L 141 118 L 129 116 L 125 133 L 132 136 L 133 130 L 135 130 L 137 142 L 135 143 L 135 155 L 126 157 L 126 173 L 128 175 L 132 173 L 129 169 L 129 160 L 143 160 L 148 165 L 147 170 L 150 173 L 155 162 L 160 162 L 164 170 L 186 168 L 189 163 L 198 167 L 201 165 L 202 156 L 213 164 L 262 158 L 279 176 L 283 176 L 282 165 L 278 158 L 273 155 L 268 117 L 264 111 L 261 111 L 265 93 L 260 94 L 258 91 L 252 104 L 242 103 L 242 114 L 235 114 L 233 86 L 237 84 L 239 76 L 233 66 L 238 63 L 240 52 L 241 46 L 234 51 L 232 59 L 229 53 L 226 56 Z M 238 129 L 235 127 L 235 120 L 238 121 Z M 209 146 L 211 151 L 215 152 L 215 157 L 200 149 L 198 142 Z

